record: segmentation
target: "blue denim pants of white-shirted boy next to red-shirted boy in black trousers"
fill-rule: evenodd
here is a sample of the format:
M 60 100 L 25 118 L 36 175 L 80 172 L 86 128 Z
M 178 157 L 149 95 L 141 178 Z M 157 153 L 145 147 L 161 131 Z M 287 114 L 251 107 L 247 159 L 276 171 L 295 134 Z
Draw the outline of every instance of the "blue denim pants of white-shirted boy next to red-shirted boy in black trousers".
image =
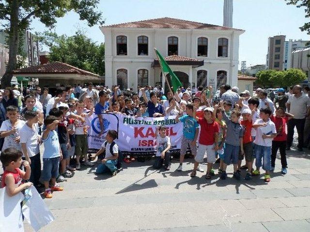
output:
M 261 146 L 255 144 L 255 165 L 256 167 L 262 167 L 265 171 L 271 170 L 271 146 Z M 262 164 L 263 159 L 263 164 Z

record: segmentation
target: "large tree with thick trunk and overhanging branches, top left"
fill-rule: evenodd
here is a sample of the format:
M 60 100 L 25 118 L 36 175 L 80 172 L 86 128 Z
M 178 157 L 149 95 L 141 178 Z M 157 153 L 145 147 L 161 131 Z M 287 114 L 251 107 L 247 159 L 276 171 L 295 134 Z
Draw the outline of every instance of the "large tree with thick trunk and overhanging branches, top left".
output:
M 0 20 L 9 34 L 9 61 L 1 78 L 2 87 L 11 86 L 12 71 L 16 69 L 19 33 L 29 29 L 33 18 L 38 18 L 48 28 L 67 12 L 79 14 L 88 26 L 103 24 L 102 13 L 97 12 L 99 0 L 0 0 Z

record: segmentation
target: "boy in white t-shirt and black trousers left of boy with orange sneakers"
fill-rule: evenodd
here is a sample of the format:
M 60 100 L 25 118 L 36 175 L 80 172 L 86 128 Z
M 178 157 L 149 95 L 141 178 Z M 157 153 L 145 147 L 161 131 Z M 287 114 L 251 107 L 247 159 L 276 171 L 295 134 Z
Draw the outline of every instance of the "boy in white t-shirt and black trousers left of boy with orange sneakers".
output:
M 31 167 L 30 182 L 32 182 L 34 186 L 38 186 L 41 176 L 41 136 L 38 134 L 38 112 L 28 110 L 25 112 L 24 116 L 27 121 L 19 132 L 23 160 L 28 161 Z

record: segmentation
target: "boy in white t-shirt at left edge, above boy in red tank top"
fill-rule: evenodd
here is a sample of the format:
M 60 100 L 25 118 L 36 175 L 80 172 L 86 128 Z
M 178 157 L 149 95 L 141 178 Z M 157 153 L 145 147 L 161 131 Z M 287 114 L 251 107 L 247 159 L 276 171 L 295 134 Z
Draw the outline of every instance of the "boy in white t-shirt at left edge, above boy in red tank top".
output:
M 0 137 L 4 137 L 2 151 L 6 148 L 13 147 L 21 151 L 19 143 L 19 131 L 25 125 L 24 120 L 18 119 L 19 111 L 15 105 L 6 107 L 6 116 L 9 118 L 1 124 Z

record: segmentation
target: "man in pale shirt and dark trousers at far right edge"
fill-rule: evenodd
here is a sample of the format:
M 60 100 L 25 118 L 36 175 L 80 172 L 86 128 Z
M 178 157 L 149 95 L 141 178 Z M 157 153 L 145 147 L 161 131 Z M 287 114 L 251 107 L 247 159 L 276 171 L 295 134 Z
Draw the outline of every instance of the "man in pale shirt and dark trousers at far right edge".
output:
M 287 123 L 287 144 L 286 149 L 290 150 L 293 143 L 294 127 L 298 133 L 298 151 L 302 151 L 304 145 L 304 129 L 306 117 L 310 116 L 310 100 L 301 92 L 302 87 L 293 87 L 293 94 L 286 102 L 287 111 L 294 115 L 294 118 Z

